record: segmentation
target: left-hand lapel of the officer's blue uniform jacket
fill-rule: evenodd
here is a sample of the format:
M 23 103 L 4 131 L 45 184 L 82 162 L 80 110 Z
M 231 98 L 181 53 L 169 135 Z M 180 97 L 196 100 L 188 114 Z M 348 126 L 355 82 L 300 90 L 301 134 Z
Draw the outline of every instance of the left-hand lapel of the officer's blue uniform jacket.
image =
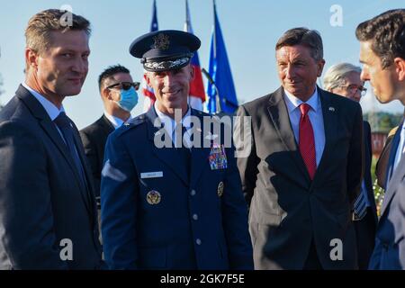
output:
M 157 146 L 155 145 L 155 137 L 157 137 L 157 139 L 162 139 L 162 137 L 164 137 L 163 134 L 166 134 L 166 130 L 162 127 L 154 107 L 148 110 L 148 112 L 146 113 L 146 117 L 148 119 L 148 139 L 151 142 L 150 146 L 152 148 L 153 154 L 155 154 L 157 158 L 164 162 L 166 166 L 169 166 L 170 169 L 172 169 L 172 171 L 175 173 L 175 175 L 177 175 L 184 182 L 184 184 L 188 185 L 188 172 L 186 171 L 185 166 L 178 165 L 178 157 L 176 157 L 175 148 L 157 148 Z M 155 127 L 155 123 L 157 127 Z M 168 137 L 168 135 L 165 136 Z M 173 143 L 171 145 L 173 145 Z

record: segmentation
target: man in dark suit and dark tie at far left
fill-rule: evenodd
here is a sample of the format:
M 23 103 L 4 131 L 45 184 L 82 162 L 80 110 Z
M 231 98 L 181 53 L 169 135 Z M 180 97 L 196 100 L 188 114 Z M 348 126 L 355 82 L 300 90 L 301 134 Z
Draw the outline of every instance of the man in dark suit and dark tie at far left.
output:
M 26 78 L 0 112 L 0 268 L 102 266 L 90 169 L 63 108 L 88 70 L 89 23 L 46 10 L 25 31 Z

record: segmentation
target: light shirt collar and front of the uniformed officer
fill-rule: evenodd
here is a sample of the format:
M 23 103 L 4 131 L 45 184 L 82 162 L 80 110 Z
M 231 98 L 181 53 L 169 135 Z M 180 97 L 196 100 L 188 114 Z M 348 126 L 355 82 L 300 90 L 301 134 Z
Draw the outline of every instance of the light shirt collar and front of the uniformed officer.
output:
M 177 139 L 177 133 L 175 133 L 175 119 L 167 116 L 165 113 L 160 112 L 157 108 L 157 102 L 155 102 L 155 111 L 157 113 L 157 117 L 160 119 L 162 124 L 164 125 L 164 128 L 170 136 L 170 139 L 172 139 L 173 143 L 176 143 Z M 190 128 L 191 128 L 191 111 L 190 108 L 187 108 L 187 112 L 184 114 L 184 117 L 182 118 L 182 121 L 179 123 L 180 125 L 183 125 L 186 129 L 186 132 L 184 133 L 184 146 L 187 148 L 192 147 L 192 142 L 191 142 L 191 134 L 190 134 Z M 182 141 L 183 143 L 183 141 Z

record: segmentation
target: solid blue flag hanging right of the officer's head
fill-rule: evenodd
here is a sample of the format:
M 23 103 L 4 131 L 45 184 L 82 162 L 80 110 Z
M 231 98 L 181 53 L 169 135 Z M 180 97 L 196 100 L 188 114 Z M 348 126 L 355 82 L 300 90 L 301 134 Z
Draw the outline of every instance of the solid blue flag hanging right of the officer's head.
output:
M 214 25 L 211 37 L 209 74 L 215 82 L 217 91 L 210 82 L 207 84 L 207 94 L 209 101 L 207 104 L 208 112 L 233 113 L 238 108 L 235 86 L 233 85 L 232 73 L 230 72 L 227 50 L 220 31 L 220 22 L 218 20 L 215 0 L 212 0 L 214 12 Z M 219 107 L 217 107 L 219 104 Z

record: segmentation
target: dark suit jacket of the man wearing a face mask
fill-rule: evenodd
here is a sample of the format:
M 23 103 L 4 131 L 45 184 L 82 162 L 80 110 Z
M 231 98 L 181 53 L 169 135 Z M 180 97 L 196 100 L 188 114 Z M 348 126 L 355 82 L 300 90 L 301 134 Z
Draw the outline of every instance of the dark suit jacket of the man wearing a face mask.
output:
M 113 130 L 115 129 L 112 123 L 104 115 L 93 124 L 80 130 L 80 137 L 85 147 L 85 156 L 92 168 L 96 198 L 100 197 L 105 142 L 107 141 L 108 135 L 110 135 Z

